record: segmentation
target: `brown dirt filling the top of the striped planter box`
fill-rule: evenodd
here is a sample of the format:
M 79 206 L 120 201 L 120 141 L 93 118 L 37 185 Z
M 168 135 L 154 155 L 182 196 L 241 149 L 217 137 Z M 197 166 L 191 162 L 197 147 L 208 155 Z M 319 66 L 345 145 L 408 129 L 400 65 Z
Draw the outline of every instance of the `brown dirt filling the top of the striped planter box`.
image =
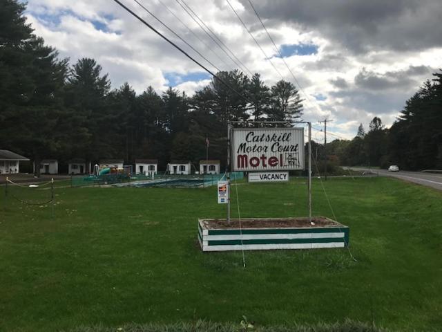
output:
M 227 229 L 240 228 L 238 219 L 210 219 L 203 220 L 204 228 L 211 229 Z M 316 227 L 342 227 L 340 223 L 327 219 L 323 216 L 315 216 L 311 218 L 276 218 L 276 219 L 241 219 L 241 228 L 316 228 Z

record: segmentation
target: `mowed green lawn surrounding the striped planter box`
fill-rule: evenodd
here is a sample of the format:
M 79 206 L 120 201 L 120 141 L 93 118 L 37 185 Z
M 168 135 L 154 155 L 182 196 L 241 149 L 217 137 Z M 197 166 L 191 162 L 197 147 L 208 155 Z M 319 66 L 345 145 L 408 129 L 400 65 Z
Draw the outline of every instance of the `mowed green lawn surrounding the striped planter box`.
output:
M 357 261 L 347 249 L 246 251 L 243 268 L 241 252 L 201 252 L 197 219 L 226 216 L 215 186 L 60 188 L 55 218 L 9 199 L 0 214 L 0 331 L 242 315 L 265 326 L 350 319 L 440 329 L 442 193 L 392 178 L 329 178 L 325 187 Z M 303 179 L 238 183 L 233 217 L 236 188 L 242 217 L 307 215 Z M 314 215 L 332 217 L 317 179 L 313 190 Z

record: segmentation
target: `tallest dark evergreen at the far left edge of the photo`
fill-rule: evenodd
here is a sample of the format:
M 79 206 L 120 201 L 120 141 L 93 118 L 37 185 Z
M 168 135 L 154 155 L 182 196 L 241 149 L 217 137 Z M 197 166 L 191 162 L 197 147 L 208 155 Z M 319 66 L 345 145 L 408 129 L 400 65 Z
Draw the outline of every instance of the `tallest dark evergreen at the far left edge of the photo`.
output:
M 39 176 L 42 156 L 64 146 L 62 102 L 67 60 L 32 33 L 14 0 L 0 1 L 0 141 L 34 159 Z

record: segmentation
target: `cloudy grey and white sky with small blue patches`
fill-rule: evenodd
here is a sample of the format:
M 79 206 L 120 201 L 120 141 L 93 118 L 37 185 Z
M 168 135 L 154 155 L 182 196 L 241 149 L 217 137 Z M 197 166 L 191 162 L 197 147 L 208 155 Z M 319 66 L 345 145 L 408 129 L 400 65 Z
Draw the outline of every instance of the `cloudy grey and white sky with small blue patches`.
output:
M 323 139 L 318 121 L 325 118 L 333 120 L 330 138 L 351 139 L 374 116 L 389 127 L 405 101 L 442 68 L 440 0 L 250 0 L 276 48 L 249 0 L 229 0 L 262 50 L 227 0 L 184 0 L 231 53 L 204 33 L 182 0 L 137 0 L 211 64 L 135 1 L 121 1 L 214 72 L 240 67 L 269 86 L 281 78 L 294 83 L 314 140 Z M 128 82 L 137 93 L 173 86 L 192 95 L 210 82 L 208 73 L 112 0 L 29 0 L 26 16 L 71 64 L 81 57 L 97 60 L 115 89 Z

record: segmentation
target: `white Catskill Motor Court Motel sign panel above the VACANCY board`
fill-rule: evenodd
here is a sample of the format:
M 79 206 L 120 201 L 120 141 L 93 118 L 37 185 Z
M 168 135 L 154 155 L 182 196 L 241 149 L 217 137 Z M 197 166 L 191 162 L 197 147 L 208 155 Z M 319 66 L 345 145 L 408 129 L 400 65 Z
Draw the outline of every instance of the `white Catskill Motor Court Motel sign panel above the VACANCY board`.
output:
M 232 128 L 233 171 L 304 169 L 304 128 Z

